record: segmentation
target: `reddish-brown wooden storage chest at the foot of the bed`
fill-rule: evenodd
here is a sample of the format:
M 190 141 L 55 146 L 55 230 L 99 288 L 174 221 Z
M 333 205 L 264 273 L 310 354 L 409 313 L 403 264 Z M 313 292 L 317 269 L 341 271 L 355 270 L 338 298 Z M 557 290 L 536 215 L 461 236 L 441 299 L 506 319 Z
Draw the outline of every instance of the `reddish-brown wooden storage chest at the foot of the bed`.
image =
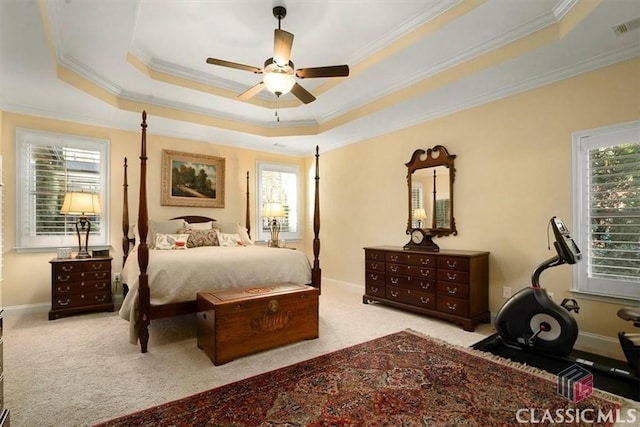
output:
M 214 365 L 318 338 L 317 288 L 278 284 L 198 292 L 198 347 Z

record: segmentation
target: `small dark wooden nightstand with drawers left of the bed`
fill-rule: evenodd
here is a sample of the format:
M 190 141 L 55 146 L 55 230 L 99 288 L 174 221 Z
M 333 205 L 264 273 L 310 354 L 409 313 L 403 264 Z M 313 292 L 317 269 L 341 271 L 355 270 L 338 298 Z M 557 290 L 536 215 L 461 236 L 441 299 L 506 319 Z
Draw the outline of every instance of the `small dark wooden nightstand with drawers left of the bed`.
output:
M 89 311 L 113 311 L 112 258 L 52 259 L 49 320 Z

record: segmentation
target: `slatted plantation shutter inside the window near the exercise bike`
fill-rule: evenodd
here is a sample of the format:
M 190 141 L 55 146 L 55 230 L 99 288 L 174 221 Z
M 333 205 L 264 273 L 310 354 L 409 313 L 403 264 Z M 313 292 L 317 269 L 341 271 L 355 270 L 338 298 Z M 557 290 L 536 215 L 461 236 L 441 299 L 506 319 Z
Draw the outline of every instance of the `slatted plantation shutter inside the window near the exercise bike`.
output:
M 640 284 L 640 142 L 589 150 L 588 192 L 591 277 Z

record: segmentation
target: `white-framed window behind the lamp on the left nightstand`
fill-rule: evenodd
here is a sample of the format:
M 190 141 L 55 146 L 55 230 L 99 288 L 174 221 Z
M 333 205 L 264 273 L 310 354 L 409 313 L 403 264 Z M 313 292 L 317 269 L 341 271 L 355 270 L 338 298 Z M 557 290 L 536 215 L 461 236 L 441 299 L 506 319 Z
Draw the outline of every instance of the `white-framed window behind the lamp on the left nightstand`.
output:
M 60 213 L 67 191 L 100 195 L 102 213 L 89 217 L 89 245 L 108 246 L 108 159 L 106 140 L 17 129 L 18 251 L 78 247 L 76 216 Z

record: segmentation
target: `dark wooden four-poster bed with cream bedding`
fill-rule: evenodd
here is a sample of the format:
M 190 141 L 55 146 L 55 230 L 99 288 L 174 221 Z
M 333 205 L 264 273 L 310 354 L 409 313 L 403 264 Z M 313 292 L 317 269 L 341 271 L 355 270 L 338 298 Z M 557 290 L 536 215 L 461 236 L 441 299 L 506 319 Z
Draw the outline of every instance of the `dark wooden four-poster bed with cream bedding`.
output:
M 125 301 L 120 315 L 131 323 L 132 341 L 139 341 L 143 353 L 147 352 L 149 324 L 152 319 L 196 313 L 196 293 L 208 289 L 297 283 L 311 285 L 320 290 L 320 207 L 319 207 L 319 153 L 316 147 L 315 197 L 313 220 L 313 263 L 301 251 L 267 248 L 260 245 L 239 244 L 238 247 L 193 247 L 185 250 L 152 250 L 148 236 L 150 219 L 147 200 L 147 143 L 146 112 L 142 113 L 140 149 L 140 190 L 135 237 L 129 237 L 129 202 L 127 160 L 124 162 L 124 200 L 122 214 L 122 249 L 124 253 L 123 283 L 127 283 Z M 186 215 L 173 218 L 184 221 L 184 226 L 197 227 L 219 223 L 213 218 Z M 170 222 L 170 221 L 166 221 Z M 195 224 L 195 225 L 194 225 Z M 226 223 L 228 224 L 228 223 Z M 243 226 L 236 223 L 242 233 Z M 202 227 L 197 227 L 202 229 Z M 247 172 L 246 218 L 244 231 L 249 236 L 249 172 Z M 184 230 L 179 230 L 184 232 Z M 220 229 L 217 230 L 220 233 Z M 223 234 L 218 234 L 222 236 Z M 246 242 L 246 237 L 244 241 Z M 155 239 L 155 237 L 154 237 Z M 235 245 L 234 245 L 235 246 Z M 134 262 L 134 252 L 137 263 Z M 211 255 L 213 254 L 213 255 Z M 198 264 L 200 263 L 200 264 Z M 206 269 L 202 266 L 206 264 Z M 206 270 L 206 271 L 205 271 Z M 167 280 L 170 278 L 171 280 Z M 164 293 L 163 293 L 164 292 Z M 188 295 L 188 296 L 185 296 Z

